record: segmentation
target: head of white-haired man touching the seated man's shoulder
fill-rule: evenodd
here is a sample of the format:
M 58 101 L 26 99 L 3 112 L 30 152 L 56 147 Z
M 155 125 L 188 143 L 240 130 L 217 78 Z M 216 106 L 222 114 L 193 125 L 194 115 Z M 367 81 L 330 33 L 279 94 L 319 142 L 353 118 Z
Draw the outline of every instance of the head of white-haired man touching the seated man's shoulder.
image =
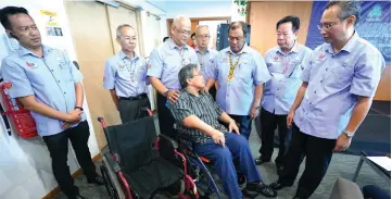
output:
M 182 47 L 187 43 L 191 34 L 191 22 L 189 17 L 179 15 L 173 20 L 172 39 L 178 46 Z

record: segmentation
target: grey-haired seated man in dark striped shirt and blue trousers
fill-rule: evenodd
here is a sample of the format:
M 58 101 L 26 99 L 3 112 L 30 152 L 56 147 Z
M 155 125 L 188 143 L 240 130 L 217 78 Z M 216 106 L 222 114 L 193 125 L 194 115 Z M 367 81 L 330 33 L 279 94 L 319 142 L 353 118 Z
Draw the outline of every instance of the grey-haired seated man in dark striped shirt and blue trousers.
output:
M 198 65 L 184 66 L 178 78 L 182 89 L 178 100 L 168 107 L 176 120 L 181 142 L 197 154 L 212 160 L 230 199 L 254 197 L 254 192 L 276 197 L 276 191 L 263 183 L 248 140 L 239 134 L 236 122 L 208 92 L 203 91 L 205 84 Z M 228 124 L 228 129 L 219 121 Z M 237 182 L 233 160 L 238 161 L 239 170 L 246 177 L 246 187 L 242 191 Z

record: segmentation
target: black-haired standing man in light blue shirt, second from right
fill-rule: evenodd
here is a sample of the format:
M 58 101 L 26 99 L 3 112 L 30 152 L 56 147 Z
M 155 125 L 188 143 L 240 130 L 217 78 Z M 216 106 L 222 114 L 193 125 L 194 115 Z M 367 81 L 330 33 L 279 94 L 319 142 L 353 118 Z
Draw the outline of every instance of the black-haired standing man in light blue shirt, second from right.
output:
M 261 157 L 257 165 L 269 162 L 274 152 L 275 129 L 279 130 L 279 153 L 275 159 L 276 166 L 282 169 L 283 157 L 290 144 L 290 132 L 287 127 L 287 114 L 294 102 L 296 91 L 301 87 L 301 74 L 312 50 L 296 42 L 300 18 L 286 16 L 276 24 L 278 46 L 265 54 L 265 62 L 273 78 L 264 90 L 261 111 Z

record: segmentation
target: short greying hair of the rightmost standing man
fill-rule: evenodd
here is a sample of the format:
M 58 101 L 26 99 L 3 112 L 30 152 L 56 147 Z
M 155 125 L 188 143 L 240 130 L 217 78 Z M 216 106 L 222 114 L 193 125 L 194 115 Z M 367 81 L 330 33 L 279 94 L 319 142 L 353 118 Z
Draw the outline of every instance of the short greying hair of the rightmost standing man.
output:
M 361 11 L 361 2 L 357 1 L 329 1 L 324 10 L 328 10 L 332 5 L 338 5 L 340 8 L 339 18 L 341 21 L 346 17 L 354 15 L 356 17 L 355 24 L 359 22 L 359 11 Z

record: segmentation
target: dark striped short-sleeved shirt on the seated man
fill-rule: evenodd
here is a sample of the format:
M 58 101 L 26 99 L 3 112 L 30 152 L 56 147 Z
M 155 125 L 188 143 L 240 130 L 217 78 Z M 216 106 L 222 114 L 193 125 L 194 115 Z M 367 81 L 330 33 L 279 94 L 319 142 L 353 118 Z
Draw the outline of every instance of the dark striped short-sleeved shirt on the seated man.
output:
M 222 133 L 227 132 L 227 128 L 218 121 L 224 111 L 208 92 L 200 91 L 199 96 L 193 96 L 188 90 L 181 89 L 178 100 L 174 104 L 169 104 L 169 110 L 176 120 L 178 133 L 191 138 L 191 140 L 180 140 L 190 147 L 192 142 L 203 145 L 212 138 L 197 128 L 184 126 L 182 121 L 187 116 L 194 115 L 213 128 Z

